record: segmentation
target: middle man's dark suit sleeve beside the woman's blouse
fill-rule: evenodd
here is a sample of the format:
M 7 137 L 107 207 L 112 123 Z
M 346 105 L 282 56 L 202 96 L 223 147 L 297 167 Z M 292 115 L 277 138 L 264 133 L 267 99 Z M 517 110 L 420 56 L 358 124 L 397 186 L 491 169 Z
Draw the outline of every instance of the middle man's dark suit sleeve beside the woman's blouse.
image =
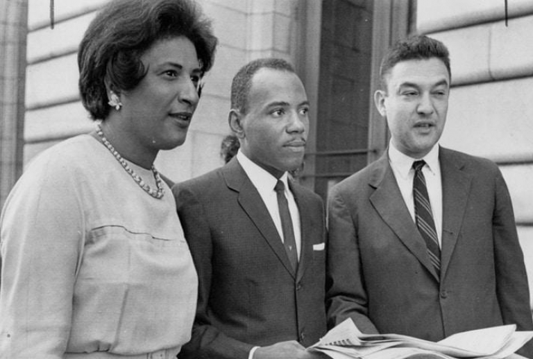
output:
M 190 189 L 180 184 L 172 190 L 178 216 L 198 272 L 198 304 L 192 338 L 178 355 L 180 359 L 248 359 L 253 345 L 239 342 L 219 331 L 209 314 L 213 244 L 203 205 Z

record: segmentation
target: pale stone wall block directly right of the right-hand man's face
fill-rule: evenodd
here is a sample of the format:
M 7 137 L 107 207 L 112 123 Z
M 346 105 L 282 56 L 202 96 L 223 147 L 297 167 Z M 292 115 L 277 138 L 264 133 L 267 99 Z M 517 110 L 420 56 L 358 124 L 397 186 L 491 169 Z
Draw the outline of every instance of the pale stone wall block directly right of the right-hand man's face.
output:
M 533 78 L 453 87 L 441 144 L 491 159 L 533 153 Z

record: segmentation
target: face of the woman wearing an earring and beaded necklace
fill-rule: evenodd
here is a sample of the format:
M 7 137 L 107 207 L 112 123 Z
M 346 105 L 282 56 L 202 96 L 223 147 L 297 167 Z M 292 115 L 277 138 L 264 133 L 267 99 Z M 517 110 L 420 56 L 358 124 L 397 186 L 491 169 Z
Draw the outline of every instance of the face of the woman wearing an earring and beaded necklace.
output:
M 198 104 L 201 67 L 187 37 L 155 42 L 141 57 L 146 76 L 120 99 L 123 130 L 149 152 L 180 146 Z

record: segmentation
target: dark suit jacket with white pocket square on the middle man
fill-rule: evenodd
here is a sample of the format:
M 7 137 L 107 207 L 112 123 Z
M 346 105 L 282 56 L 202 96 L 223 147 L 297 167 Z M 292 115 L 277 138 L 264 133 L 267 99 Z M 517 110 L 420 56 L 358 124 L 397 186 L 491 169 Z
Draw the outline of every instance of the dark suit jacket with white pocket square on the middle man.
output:
M 323 202 L 290 188 L 301 216 L 297 273 L 236 159 L 174 187 L 199 279 L 192 340 L 179 358 L 246 359 L 253 346 L 298 340 L 307 347 L 325 333 Z

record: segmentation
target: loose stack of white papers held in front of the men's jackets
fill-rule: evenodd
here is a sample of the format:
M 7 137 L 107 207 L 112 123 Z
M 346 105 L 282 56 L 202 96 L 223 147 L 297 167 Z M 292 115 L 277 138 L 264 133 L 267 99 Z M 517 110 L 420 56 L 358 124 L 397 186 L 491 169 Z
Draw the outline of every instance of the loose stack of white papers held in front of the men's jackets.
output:
M 330 330 L 307 350 L 333 359 L 504 359 L 523 358 L 515 351 L 533 338 L 533 331 L 516 331 L 516 325 L 493 326 L 450 335 L 430 342 L 408 335 L 363 334 L 352 319 Z

